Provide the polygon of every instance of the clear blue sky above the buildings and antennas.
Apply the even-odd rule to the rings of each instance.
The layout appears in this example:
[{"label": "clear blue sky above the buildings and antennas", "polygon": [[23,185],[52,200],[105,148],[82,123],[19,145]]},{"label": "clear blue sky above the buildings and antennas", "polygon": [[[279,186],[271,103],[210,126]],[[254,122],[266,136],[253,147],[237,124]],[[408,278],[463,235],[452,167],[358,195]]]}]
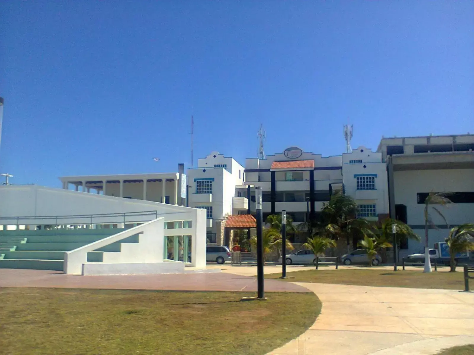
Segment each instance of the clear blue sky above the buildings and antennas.
[{"label": "clear blue sky above the buildings and antennas", "polygon": [[[176,171],[474,133],[473,1],[3,1],[0,172]],[[153,157],[161,160],[156,163]]]}]

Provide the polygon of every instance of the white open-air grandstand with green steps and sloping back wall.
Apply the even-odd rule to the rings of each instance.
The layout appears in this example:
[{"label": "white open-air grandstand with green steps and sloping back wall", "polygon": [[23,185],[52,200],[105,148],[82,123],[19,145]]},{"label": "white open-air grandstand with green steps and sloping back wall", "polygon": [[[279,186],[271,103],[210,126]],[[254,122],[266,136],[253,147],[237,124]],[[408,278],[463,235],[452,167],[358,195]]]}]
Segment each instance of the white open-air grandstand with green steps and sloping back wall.
[{"label": "white open-air grandstand with green steps and sloping back wall", "polygon": [[0,201],[0,268],[117,275],[206,267],[203,210],[34,185],[0,186]]}]

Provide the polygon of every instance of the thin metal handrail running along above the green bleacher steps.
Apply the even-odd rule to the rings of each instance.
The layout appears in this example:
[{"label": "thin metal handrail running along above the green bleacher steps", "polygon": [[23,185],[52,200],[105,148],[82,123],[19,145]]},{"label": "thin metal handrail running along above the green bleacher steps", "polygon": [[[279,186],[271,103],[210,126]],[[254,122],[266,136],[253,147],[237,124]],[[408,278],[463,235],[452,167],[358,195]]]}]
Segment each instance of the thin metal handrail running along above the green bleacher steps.
[{"label": "thin metal handrail running along above the green bleacher steps", "polygon": [[[58,220],[73,220],[73,219],[91,219],[90,223],[93,223],[94,218],[97,217],[123,217],[123,222],[127,222],[127,217],[133,216],[153,216],[152,219],[158,218],[158,211],[138,211],[138,212],[119,212],[119,213],[95,213],[95,214],[69,214],[69,215],[57,215],[57,216],[0,216],[1,221],[16,221],[15,224],[30,224],[26,221],[35,221],[35,220],[51,220],[55,221],[55,224],[58,224]],[[134,222],[146,222],[150,219],[144,219]],[[21,222],[21,223],[20,223]],[[121,221],[120,221],[121,222]],[[97,222],[96,222],[97,223]]]}]

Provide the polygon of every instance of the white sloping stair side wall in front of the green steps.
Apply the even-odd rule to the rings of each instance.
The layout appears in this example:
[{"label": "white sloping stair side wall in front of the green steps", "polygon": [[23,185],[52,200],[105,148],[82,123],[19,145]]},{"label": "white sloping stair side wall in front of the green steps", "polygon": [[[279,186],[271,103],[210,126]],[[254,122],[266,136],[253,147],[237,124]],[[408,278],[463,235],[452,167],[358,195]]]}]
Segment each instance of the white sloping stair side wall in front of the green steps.
[{"label": "white sloping stair side wall in front of the green steps", "polygon": [[[139,242],[141,247],[139,250],[127,255],[127,262],[160,262],[163,261],[163,235],[164,235],[164,218],[159,217],[152,221],[143,223],[137,227],[121,231],[101,240],[94,241],[64,253],[64,274],[82,274],[82,264],[87,263],[87,253],[99,248],[103,248],[109,244],[124,240],[133,235],[139,234]],[[160,238],[161,237],[161,238]],[[128,243],[127,243],[128,244]],[[123,245],[122,245],[123,247]],[[121,254],[124,251],[114,252]],[[104,252],[107,253],[107,252]],[[124,258],[125,259],[125,258]]]}]

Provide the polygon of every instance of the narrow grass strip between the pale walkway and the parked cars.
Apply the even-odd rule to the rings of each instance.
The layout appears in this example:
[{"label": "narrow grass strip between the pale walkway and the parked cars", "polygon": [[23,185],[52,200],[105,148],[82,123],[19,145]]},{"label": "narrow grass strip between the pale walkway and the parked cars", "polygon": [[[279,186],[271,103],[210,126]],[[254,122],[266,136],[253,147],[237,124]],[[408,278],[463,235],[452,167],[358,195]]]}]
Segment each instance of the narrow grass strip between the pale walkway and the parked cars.
[{"label": "narrow grass strip between the pale walkway and the parked cars", "polygon": [[[286,281],[313,282],[321,284],[346,284],[361,286],[388,286],[413,288],[442,288],[449,290],[464,290],[462,272],[432,272],[420,271],[389,271],[381,269],[344,269],[344,270],[304,270],[289,272]],[[265,275],[276,279],[280,274]]]}]

